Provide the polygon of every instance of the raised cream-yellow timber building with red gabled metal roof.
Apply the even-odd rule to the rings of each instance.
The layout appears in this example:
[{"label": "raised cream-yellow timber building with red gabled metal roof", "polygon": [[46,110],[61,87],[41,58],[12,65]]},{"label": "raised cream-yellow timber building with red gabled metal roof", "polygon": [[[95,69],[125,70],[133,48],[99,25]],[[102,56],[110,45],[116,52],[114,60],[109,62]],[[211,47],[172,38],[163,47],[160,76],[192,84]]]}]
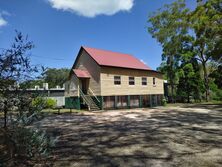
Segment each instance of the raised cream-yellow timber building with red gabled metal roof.
[{"label": "raised cream-yellow timber building with red gabled metal roof", "polygon": [[161,105],[163,94],[163,75],[132,55],[81,47],[65,86],[65,107],[151,107]]}]

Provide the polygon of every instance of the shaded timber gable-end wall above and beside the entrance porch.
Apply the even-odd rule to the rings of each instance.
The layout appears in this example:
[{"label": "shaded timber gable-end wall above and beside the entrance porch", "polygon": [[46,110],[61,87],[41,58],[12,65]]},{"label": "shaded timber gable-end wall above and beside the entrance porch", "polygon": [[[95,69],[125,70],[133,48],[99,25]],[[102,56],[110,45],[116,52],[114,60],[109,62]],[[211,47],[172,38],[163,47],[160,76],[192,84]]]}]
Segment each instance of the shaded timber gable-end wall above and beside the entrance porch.
[{"label": "shaded timber gable-end wall above and beside the entrance porch", "polygon": [[87,70],[91,75],[89,88],[95,95],[100,95],[100,66],[84,50],[80,53],[75,69]]}]

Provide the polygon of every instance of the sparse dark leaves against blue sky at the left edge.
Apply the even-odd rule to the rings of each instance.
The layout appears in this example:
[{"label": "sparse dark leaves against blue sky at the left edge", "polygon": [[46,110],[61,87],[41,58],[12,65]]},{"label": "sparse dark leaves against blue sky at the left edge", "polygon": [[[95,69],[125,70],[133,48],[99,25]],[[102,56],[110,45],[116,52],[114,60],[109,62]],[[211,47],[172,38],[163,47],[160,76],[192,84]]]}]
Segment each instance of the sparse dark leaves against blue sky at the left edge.
[{"label": "sparse dark leaves against blue sky at the left edge", "polygon": [[5,89],[9,83],[30,78],[31,73],[38,71],[36,66],[30,65],[29,52],[32,48],[34,44],[16,31],[11,48],[3,49],[0,53],[0,89]]}]

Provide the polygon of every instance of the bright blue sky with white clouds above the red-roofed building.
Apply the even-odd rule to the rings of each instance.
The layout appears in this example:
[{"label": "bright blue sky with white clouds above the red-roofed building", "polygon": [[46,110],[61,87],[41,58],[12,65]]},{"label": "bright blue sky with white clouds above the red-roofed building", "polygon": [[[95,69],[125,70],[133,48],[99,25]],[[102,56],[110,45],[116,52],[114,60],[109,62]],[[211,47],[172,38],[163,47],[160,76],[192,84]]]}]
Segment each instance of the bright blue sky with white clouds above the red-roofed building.
[{"label": "bright blue sky with white clouds above the red-roofed building", "polygon": [[71,68],[88,46],[132,54],[155,70],[162,48],[147,32],[148,15],[173,1],[0,0],[0,48],[9,48],[18,30],[35,44],[32,64]]}]

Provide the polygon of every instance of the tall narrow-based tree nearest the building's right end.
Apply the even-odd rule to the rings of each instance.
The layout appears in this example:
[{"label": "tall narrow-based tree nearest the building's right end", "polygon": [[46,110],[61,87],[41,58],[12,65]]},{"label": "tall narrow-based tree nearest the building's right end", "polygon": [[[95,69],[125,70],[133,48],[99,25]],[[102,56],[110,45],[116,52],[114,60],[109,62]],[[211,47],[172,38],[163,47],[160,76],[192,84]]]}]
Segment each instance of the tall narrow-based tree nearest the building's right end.
[{"label": "tall narrow-based tree nearest the building's right end", "polygon": [[177,83],[177,67],[180,60],[180,50],[182,39],[187,34],[186,15],[189,12],[185,8],[183,0],[165,5],[164,10],[159,9],[148,19],[151,25],[148,32],[162,45],[162,59],[165,62],[165,73],[169,79],[171,87],[172,101],[174,87]]}]

